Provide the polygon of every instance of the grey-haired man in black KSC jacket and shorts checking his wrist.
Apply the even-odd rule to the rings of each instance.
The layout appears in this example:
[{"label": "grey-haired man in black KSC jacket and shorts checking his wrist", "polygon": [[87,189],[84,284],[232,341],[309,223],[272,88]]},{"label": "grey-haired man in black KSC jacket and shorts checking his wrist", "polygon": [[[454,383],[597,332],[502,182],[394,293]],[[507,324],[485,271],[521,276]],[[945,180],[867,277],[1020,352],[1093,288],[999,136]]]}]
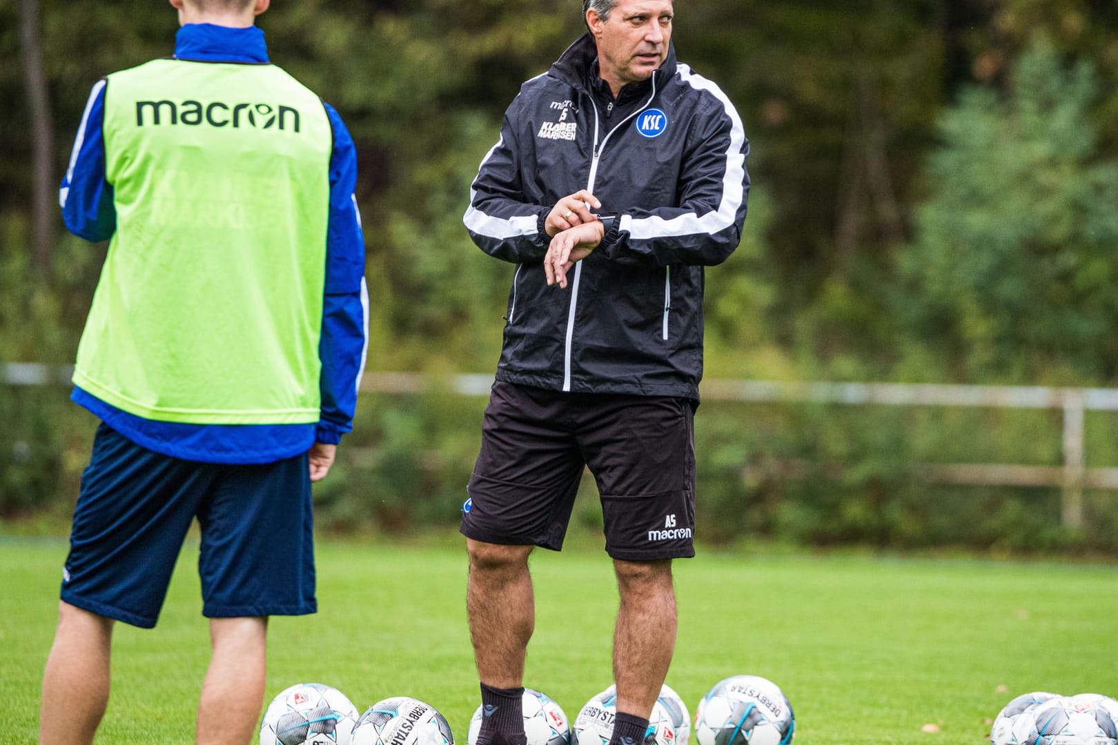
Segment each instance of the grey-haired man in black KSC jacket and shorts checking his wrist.
[{"label": "grey-haired man in black KSC jacket and shorts checking his wrist", "polygon": [[703,267],[746,218],[749,143],[718,86],[675,60],[672,0],[584,15],[589,34],[509,106],[464,218],[515,265],[461,528],[481,745],[524,742],[528,555],[561,548],[586,466],[620,594],[610,742],[644,739],[675,644],[671,560],[694,555]]}]

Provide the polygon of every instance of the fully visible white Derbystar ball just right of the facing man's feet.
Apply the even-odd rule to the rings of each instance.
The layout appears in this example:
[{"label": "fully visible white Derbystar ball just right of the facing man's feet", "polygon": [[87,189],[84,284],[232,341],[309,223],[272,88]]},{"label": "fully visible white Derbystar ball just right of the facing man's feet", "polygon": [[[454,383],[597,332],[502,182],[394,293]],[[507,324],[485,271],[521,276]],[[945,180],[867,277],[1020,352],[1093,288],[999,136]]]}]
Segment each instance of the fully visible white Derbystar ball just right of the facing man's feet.
[{"label": "fully visible white Derbystar ball just right of the facing man's feet", "polygon": [[699,745],[787,745],[795,733],[788,698],[760,676],[719,681],[695,709]]}]

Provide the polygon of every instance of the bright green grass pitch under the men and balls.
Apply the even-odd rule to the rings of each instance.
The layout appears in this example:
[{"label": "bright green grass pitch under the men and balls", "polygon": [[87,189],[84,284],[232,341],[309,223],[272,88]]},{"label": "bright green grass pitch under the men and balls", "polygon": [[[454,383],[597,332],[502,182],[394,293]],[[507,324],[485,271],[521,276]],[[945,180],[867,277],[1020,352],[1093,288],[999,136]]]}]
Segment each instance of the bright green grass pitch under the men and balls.
[{"label": "bright green grass pitch under the men and balls", "polygon": [[[31,742],[66,543],[0,538],[0,742]],[[159,625],[117,624],[98,742],[192,742],[209,657],[197,546],[179,562]],[[320,541],[316,615],[271,623],[271,698],[332,685],[363,710],[388,696],[438,708],[459,743],[477,706],[457,541]],[[616,589],[604,553],[537,552],[525,685],[574,718],[610,682]],[[741,555],[675,564],[680,633],[667,682],[693,716],[737,674],[779,685],[800,745],[980,745],[1017,694],[1118,696],[1118,571],[1060,562]],[[926,727],[935,725],[935,727]],[[927,732],[926,729],[935,729]]]}]

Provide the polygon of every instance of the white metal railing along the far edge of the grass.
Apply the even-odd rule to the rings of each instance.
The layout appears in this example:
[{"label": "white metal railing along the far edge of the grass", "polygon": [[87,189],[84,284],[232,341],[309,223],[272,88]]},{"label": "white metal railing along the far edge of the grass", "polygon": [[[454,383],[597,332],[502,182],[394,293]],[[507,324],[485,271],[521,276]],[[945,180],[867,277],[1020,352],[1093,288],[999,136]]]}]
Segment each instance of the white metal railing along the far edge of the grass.
[{"label": "white metal railing along the far edge of the grass", "polygon": [[[0,383],[9,385],[69,384],[73,367],[38,363],[0,365]],[[366,373],[361,390],[369,393],[421,393],[443,388],[461,395],[487,395],[492,375],[459,374],[436,378],[424,373]],[[707,380],[704,401],[757,403],[839,403],[851,405],[932,405],[1063,411],[1063,465],[937,464],[920,466],[931,481],[972,486],[1044,486],[1062,489],[1062,522],[1080,527],[1083,489],[1118,489],[1118,468],[1087,468],[1083,423],[1087,411],[1118,411],[1118,389],[1044,388],[1036,385],[935,385],[908,383],[805,383]]]}]

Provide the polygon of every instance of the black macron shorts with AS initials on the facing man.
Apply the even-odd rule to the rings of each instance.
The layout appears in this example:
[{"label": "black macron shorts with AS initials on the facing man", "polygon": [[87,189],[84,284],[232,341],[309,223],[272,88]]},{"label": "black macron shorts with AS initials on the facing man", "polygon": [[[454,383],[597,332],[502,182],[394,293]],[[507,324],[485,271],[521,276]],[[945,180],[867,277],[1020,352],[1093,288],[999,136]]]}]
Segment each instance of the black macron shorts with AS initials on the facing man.
[{"label": "black macron shorts with AS initials on the facing man", "polygon": [[694,556],[694,403],[493,384],[463,535],[562,548],[582,469],[601,498],[606,552]]}]

